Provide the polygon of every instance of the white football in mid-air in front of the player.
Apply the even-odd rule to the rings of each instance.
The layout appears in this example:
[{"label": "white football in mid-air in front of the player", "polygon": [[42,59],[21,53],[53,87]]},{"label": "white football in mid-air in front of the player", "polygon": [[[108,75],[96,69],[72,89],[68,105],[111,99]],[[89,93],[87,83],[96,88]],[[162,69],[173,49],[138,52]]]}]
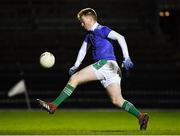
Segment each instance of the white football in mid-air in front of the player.
[{"label": "white football in mid-air in front of the player", "polygon": [[44,52],[40,56],[40,64],[44,68],[51,68],[55,63],[55,57],[50,52]]}]

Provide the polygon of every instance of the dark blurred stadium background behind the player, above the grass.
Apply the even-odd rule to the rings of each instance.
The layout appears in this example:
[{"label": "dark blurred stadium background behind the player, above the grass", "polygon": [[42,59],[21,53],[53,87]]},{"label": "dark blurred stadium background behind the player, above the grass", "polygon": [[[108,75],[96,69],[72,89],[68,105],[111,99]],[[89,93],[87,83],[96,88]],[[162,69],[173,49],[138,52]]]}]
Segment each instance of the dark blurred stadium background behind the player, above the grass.
[{"label": "dark blurred stadium background behind the player, above the grass", "polygon": [[[37,109],[36,98],[52,101],[59,95],[84,39],[76,14],[86,7],[126,38],[135,67],[123,70],[124,98],[137,108],[179,109],[179,0],[1,0],[0,109]],[[121,49],[114,48],[121,65]],[[56,57],[51,69],[39,64],[45,51]],[[80,68],[91,63],[89,50]],[[24,90],[9,97],[20,81]],[[78,86],[61,108],[116,109],[99,82]]]}]

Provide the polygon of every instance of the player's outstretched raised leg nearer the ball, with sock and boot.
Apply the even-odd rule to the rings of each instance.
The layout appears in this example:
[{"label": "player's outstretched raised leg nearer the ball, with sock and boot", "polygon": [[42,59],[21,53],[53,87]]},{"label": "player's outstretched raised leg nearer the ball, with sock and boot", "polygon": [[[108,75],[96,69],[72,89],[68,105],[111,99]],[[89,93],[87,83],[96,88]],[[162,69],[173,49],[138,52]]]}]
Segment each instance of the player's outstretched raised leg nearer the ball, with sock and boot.
[{"label": "player's outstretched raised leg nearer the ball, with sock and boot", "polygon": [[53,102],[45,102],[40,99],[37,99],[37,102],[43,109],[53,114],[57,107],[73,93],[79,84],[94,80],[98,80],[96,74],[91,65],[87,66],[70,77],[64,89]]}]

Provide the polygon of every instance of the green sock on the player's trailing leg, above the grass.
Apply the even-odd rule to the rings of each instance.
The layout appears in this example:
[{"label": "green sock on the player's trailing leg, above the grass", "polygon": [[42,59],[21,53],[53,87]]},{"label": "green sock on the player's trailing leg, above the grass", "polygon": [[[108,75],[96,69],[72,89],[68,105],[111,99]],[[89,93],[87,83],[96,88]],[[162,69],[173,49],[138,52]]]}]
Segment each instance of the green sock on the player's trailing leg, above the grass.
[{"label": "green sock on the player's trailing leg, above the grass", "polygon": [[132,115],[134,115],[137,118],[139,117],[140,111],[138,109],[136,109],[136,107],[134,107],[134,105],[128,101],[125,101],[123,103],[122,109],[131,113]]}]

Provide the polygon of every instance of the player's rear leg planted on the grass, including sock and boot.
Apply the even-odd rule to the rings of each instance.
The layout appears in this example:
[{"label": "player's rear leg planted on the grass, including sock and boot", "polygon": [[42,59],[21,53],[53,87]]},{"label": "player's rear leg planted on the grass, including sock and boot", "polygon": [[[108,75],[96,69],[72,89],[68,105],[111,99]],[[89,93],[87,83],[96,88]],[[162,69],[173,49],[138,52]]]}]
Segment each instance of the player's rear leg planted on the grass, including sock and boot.
[{"label": "player's rear leg planted on the grass, including sock and boot", "polygon": [[145,130],[149,120],[148,114],[141,113],[132,103],[122,97],[120,84],[112,83],[106,87],[106,90],[112,100],[112,103],[134,115],[139,120],[140,130]]}]

